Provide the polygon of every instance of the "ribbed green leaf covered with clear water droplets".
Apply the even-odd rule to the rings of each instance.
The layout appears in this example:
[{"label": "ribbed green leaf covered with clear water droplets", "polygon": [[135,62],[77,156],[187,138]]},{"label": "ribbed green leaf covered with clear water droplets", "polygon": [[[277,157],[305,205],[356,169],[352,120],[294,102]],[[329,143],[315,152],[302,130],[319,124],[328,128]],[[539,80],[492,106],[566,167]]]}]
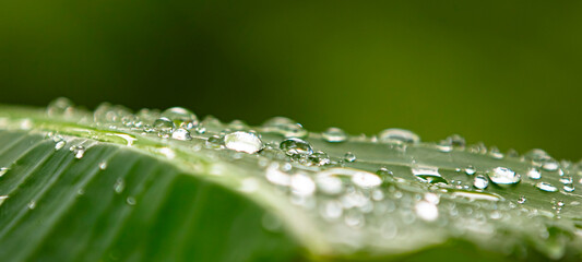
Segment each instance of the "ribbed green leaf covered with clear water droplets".
[{"label": "ribbed green leaf covered with clear water droplets", "polygon": [[405,130],[0,107],[2,261],[580,260],[582,165]]}]

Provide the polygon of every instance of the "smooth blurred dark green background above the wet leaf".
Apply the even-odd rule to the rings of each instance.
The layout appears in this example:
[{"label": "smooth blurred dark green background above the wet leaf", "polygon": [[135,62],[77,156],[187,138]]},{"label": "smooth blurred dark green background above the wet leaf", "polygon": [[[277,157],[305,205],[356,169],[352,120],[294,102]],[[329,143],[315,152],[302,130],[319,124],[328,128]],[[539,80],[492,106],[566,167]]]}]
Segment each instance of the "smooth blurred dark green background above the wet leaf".
[{"label": "smooth blurred dark green background above the wet leaf", "polygon": [[580,1],[2,1],[0,103],[183,106],[582,157]]}]

